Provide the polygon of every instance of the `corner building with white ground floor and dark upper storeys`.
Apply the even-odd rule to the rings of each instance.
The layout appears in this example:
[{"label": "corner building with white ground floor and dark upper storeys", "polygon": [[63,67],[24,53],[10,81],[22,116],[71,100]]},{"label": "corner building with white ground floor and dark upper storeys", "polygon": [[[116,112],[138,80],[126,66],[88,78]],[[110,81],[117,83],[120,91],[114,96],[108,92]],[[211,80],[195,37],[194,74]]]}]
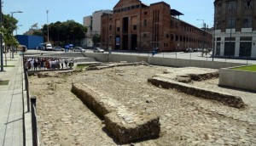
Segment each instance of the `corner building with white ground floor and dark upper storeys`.
[{"label": "corner building with white ground floor and dark upper storeys", "polygon": [[216,56],[256,57],[256,0],[214,1]]}]

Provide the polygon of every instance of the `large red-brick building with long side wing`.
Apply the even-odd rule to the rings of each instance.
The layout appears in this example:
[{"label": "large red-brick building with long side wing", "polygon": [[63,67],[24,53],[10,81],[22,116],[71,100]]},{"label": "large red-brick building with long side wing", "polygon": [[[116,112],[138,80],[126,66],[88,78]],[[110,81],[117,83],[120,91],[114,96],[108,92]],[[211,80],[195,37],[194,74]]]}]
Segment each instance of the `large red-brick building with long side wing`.
[{"label": "large red-brick building with long side wing", "polygon": [[139,0],[120,0],[113,14],[102,15],[102,48],[160,52],[212,48],[212,35],[178,19],[167,3],[150,6]]}]

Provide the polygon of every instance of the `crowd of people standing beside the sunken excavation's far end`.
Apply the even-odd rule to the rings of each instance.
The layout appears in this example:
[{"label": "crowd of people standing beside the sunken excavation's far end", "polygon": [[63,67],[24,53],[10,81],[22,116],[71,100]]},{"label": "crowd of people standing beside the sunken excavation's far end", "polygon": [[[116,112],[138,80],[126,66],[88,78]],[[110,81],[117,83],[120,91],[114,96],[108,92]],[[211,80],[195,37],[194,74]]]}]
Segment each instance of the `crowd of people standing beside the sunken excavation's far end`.
[{"label": "crowd of people standing beside the sunken excavation's far end", "polygon": [[67,69],[73,67],[73,59],[29,58],[24,59],[24,64],[27,70]]}]

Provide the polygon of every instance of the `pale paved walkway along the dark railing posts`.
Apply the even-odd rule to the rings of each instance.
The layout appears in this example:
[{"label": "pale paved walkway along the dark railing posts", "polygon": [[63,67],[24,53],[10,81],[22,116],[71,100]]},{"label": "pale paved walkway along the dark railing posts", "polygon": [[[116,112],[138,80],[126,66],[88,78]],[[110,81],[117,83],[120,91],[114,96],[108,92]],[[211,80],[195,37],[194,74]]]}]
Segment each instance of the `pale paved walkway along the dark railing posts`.
[{"label": "pale paved walkway along the dark railing posts", "polygon": [[[0,71],[0,81],[9,80],[8,85],[0,86],[0,144],[3,146],[32,145],[31,115],[27,112],[26,92],[23,89],[25,86],[22,57],[19,54],[15,54],[15,59],[10,59],[9,54],[7,56],[7,65],[15,65],[15,67],[3,66],[4,71]],[[5,59],[3,59],[3,65],[5,65]],[[23,122],[24,116],[28,117],[26,122]],[[24,137],[26,135],[28,137]]]}]

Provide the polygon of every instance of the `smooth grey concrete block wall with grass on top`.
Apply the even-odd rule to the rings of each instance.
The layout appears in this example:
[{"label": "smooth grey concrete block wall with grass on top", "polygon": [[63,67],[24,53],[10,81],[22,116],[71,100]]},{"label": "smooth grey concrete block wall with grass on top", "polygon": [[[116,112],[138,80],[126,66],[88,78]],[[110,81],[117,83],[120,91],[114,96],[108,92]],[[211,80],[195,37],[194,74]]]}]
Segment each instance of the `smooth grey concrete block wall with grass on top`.
[{"label": "smooth grey concrete block wall with grass on top", "polygon": [[218,85],[256,92],[256,73],[233,68],[220,69]]}]

